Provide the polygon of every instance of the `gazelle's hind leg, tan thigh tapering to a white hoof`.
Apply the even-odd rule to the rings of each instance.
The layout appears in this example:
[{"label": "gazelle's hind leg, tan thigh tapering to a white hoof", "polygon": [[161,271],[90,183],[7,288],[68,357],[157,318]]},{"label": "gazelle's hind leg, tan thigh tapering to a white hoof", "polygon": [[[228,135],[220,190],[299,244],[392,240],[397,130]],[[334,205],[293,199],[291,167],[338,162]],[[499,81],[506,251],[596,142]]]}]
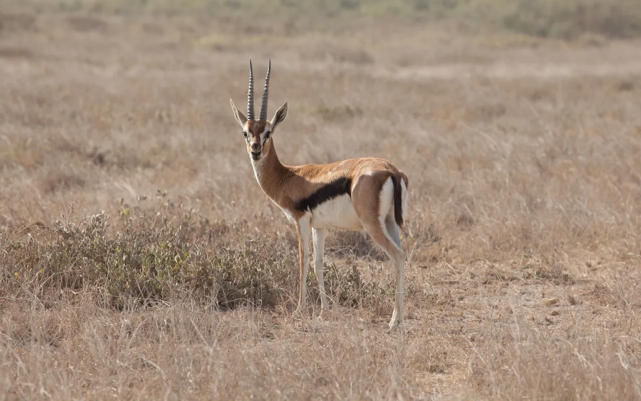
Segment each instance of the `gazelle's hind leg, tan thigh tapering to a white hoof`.
[{"label": "gazelle's hind leg, tan thigh tapering to a white hoof", "polygon": [[[362,181],[361,181],[362,180]],[[352,202],[363,228],[381,247],[396,268],[396,297],[390,329],[395,331],[403,321],[403,284],[405,252],[401,247],[399,227],[394,220],[392,180],[387,179],[380,192],[372,192],[374,177],[363,176],[352,191]]]}]

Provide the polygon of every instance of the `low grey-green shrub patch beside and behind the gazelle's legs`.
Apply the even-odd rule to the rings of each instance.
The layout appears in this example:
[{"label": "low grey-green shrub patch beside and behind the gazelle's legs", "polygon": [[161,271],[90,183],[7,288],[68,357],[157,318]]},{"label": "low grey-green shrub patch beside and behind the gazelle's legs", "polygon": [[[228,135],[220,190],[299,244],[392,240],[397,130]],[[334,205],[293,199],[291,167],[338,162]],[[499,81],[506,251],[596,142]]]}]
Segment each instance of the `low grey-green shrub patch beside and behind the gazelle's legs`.
[{"label": "low grey-green shrub patch beside and behind the gazelle's legs", "polygon": [[[56,220],[50,231],[22,240],[1,235],[0,295],[28,291],[42,299],[65,290],[86,291],[96,294],[102,306],[115,309],[170,299],[224,309],[297,301],[297,250],[283,241],[263,235],[245,241],[240,249],[211,254],[205,241],[187,241],[172,225],[154,229],[145,218],[129,218],[114,235],[108,220],[103,211],[78,223]],[[376,306],[385,299],[391,305],[394,282],[363,283],[354,266],[331,264],[326,271],[328,295],[340,304]],[[313,268],[307,281],[312,302],[319,303]]]}]

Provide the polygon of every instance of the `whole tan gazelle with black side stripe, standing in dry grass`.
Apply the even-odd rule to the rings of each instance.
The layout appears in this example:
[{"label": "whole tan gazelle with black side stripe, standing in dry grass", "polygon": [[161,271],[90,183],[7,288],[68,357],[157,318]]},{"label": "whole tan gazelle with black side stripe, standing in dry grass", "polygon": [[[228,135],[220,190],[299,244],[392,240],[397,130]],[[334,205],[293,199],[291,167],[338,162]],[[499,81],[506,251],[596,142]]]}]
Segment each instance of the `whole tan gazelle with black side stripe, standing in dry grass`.
[{"label": "whole tan gazelle with black side stripe, standing in dry grass", "polygon": [[405,253],[399,231],[407,210],[408,178],[387,160],[358,158],[326,165],[285,166],[276,155],[272,135],[285,117],[287,102],[267,120],[271,60],[267,67],[260,117],[254,119],[254,74],[249,60],[247,117],[231,101],[231,108],[246,140],[247,153],[258,185],[290,222],[296,225],[299,253],[299,299],[296,311],[306,303],[306,277],[310,228],[314,270],[319,279],[320,304],[328,309],[323,279],[323,251],[328,228],[362,230],[387,253],[396,266],[396,299],[390,329],[403,321]]}]

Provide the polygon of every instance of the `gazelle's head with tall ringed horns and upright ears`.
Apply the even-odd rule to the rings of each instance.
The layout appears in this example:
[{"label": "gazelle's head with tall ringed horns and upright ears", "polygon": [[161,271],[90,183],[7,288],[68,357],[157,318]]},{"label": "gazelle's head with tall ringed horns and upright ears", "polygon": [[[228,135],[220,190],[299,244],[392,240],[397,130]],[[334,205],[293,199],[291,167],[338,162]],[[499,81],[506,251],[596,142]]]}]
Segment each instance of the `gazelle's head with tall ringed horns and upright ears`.
[{"label": "gazelle's head with tall ringed horns and upright ears", "polygon": [[269,95],[269,73],[272,69],[272,61],[269,60],[267,67],[267,77],[265,77],[265,88],[263,89],[263,104],[260,106],[260,118],[254,119],[254,72],[249,60],[249,90],[247,91],[247,117],[238,110],[234,102],[231,102],[231,110],[242,127],[242,133],[247,145],[247,153],[252,162],[257,162],[269,154],[271,147],[271,135],[274,130],[285,120],[287,116],[287,102],[276,111],[271,121],[267,120],[267,97]]}]

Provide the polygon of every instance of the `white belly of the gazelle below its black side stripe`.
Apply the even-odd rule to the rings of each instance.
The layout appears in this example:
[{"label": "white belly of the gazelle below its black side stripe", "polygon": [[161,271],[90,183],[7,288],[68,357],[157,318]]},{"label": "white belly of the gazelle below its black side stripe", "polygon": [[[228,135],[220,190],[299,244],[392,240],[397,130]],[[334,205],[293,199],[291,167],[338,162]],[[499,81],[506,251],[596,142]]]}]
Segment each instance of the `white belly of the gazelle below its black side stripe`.
[{"label": "white belly of the gazelle below its black side stripe", "polygon": [[320,204],[312,211],[313,228],[340,228],[344,230],[362,230],[363,225],[356,215],[349,195],[340,195]]}]

